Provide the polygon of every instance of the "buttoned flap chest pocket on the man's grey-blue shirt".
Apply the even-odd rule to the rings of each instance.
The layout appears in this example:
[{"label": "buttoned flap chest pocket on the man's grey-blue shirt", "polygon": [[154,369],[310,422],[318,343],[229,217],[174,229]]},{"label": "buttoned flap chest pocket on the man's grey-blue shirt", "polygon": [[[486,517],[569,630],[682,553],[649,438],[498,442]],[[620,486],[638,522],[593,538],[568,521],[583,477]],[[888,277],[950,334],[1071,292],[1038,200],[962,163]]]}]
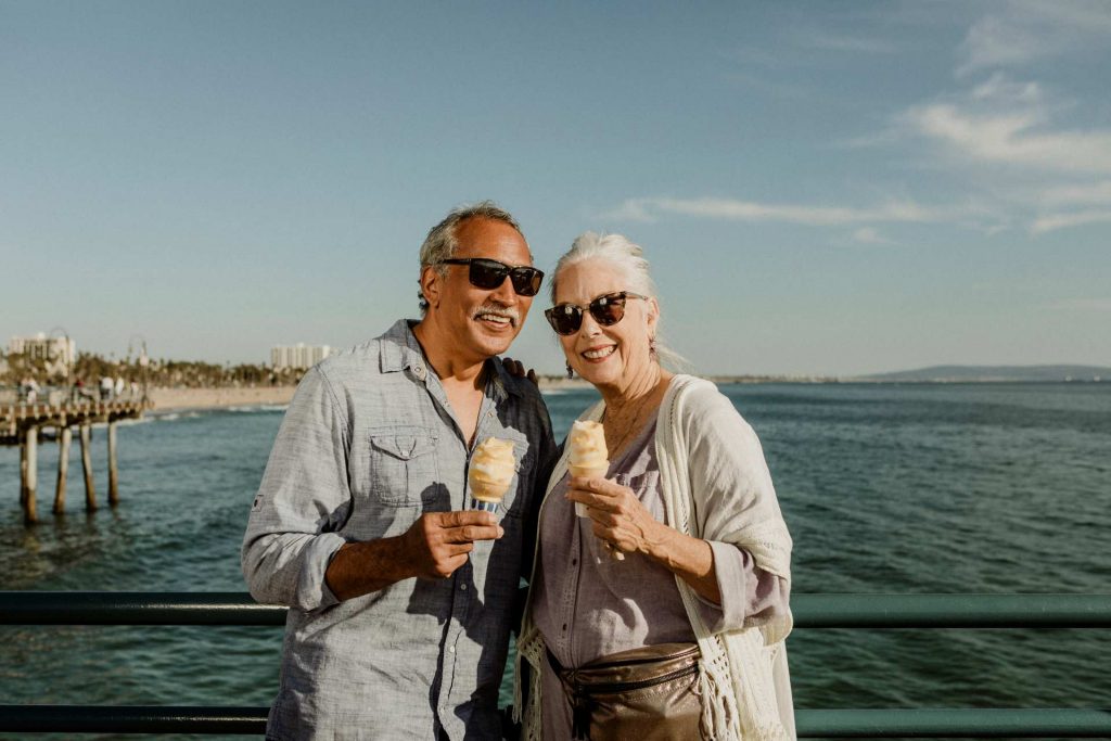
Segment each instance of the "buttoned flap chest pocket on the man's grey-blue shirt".
[{"label": "buttoned flap chest pocket on the man's grey-blue shirt", "polygon": [[419,427],[370,430],[370,495],[386,504],[420,505],[438,493],[437,437]]}]

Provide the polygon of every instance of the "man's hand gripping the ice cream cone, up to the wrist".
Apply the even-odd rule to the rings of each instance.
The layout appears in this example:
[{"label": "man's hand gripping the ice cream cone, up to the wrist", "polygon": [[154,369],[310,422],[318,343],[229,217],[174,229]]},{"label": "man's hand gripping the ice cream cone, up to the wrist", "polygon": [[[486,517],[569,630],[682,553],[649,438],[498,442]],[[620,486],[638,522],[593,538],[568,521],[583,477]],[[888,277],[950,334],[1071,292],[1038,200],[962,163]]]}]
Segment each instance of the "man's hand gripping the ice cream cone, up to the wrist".
[{"label": "man's hand gripping the ice cream cone, up to the wrist", "polygon": [[467,563],[477,540],[504,534],[490,512],[426,512],[401,537],[410,568],[419,579],[448,579]]}]

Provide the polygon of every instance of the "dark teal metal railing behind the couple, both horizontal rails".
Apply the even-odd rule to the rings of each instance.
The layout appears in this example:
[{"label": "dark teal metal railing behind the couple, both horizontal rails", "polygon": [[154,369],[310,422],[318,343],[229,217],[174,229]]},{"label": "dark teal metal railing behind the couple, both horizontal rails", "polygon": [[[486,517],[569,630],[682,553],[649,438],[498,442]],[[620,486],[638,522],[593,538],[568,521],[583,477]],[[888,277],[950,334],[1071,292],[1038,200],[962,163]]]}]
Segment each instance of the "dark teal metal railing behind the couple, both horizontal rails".
[{"label": "dark teal metal railing behind the couple, both horizontal rails", "polygon": [[[797,594],[795,627],[1111,628],[1111,594]],[[281,625],[238,592],[0,592],[0,624]],[[0,705],[0,733],[243,733],[267,708]],[[800,738],[1111,738],[1108,709],[798,710]]]}]

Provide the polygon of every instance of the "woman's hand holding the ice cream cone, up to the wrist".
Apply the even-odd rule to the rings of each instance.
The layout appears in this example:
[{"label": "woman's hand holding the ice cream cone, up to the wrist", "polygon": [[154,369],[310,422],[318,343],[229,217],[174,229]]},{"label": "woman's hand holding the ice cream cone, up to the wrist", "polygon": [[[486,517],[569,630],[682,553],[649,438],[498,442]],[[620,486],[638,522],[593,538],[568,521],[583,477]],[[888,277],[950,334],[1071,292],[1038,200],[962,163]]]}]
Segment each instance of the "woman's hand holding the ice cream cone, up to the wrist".
[{"label": "woman's hand holding the ice cream cone, up to the wrist", "polygon": [[653,557],[664,548],[671,528],[653,518],[629,487],[573,477],[567,498],[589,508],[594,535],[614,550]]}]

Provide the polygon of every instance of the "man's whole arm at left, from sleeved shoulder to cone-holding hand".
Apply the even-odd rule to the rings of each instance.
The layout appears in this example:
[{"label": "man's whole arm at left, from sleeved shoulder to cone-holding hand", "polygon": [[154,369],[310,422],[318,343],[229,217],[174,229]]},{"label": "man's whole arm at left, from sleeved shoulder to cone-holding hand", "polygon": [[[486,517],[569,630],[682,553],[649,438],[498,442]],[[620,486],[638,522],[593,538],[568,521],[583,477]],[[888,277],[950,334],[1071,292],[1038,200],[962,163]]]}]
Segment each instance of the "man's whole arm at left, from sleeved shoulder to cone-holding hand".
[{"label": "man's whole arm at left, from sleeved shoulder to cone-holding hand", "polygon": [[500,538],[488,512],[428,512],[402,535],[348,542],[349,425],[328,379],[311,370],[274,441],[243,539],[242,567],[260,602],[317,610],[413,577],[443,579],[476,540]]}]

